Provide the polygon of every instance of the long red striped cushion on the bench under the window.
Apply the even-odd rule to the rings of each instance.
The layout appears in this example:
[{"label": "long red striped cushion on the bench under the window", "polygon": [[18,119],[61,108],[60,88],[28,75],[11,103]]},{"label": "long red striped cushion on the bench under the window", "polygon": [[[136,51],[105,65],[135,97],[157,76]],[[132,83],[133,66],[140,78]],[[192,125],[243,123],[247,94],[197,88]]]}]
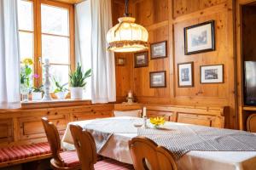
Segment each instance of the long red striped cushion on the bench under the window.
[{"label": "long red striped cushion on the bench under the window", "polygon": [[30,156],[41,156],[51,153],[49,143],[26,144],[0,149],[0,162],[15,161]]}]

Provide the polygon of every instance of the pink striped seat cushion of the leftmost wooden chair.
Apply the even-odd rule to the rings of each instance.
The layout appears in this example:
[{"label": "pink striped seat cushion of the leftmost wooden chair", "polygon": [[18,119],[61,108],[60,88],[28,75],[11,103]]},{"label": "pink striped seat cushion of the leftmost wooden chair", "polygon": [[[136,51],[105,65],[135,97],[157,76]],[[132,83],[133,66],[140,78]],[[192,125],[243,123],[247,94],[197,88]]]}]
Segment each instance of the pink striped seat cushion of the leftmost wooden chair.
[{"label": "pink striped seat cushion of the leftmost wooden chair", "polygon": [[80,166],[79,156],[78,156],[76,150],[61,152],[60,156],[64,161],[64,166],[65,167]]}]

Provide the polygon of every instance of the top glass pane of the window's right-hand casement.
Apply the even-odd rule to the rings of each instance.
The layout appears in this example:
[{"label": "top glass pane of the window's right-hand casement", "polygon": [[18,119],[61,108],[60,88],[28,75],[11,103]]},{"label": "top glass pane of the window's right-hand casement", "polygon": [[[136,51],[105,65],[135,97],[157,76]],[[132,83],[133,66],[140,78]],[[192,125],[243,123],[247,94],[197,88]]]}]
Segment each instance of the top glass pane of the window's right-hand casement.
[{"label": "top glass pane of the window's right-hand casement", "polygon": [[68,10],[65,8],[41,5],[42,32],[68,36]]}]

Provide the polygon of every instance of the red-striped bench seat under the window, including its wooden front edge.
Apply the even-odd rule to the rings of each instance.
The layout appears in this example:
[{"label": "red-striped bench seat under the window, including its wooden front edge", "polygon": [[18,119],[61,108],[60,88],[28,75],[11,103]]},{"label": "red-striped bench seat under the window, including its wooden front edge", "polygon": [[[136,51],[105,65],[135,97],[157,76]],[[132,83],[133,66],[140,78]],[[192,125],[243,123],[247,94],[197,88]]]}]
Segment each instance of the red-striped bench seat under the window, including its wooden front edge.
[{"label": "red-striped bench seat under the window, including its wooden front edge", "polygon": [[49,143],[26,144],[0,149],[0,167],[9,167],[51,157]]}]

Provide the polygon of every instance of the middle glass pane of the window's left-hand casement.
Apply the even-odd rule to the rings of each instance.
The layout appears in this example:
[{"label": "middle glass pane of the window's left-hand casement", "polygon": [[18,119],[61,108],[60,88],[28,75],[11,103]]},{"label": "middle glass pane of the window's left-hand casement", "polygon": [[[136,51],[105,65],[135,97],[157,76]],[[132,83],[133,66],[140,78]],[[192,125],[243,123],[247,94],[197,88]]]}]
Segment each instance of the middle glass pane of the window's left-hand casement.
[{"label": "middle glass pane of the window's left-hand casement", "polygon": [[20,60],[33,59],[33,33],[19,32],[20,38]]}]

